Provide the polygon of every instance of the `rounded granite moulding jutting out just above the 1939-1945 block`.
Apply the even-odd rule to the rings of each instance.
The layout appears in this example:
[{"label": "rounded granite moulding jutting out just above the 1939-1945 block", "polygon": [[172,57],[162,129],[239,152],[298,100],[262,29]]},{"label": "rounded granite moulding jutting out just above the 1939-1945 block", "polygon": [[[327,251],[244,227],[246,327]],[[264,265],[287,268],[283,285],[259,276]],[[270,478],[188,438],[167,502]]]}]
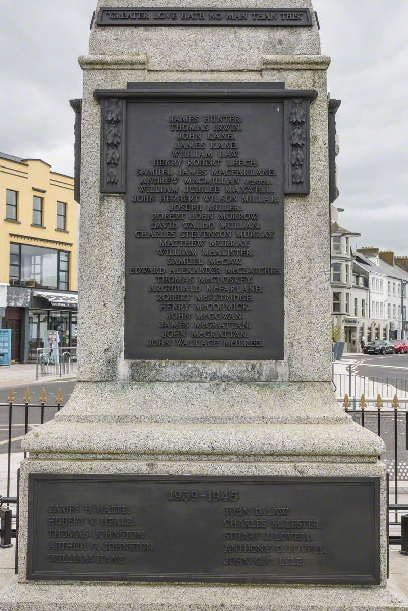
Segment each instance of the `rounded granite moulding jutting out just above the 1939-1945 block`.
[{"label": "rounded granite moulding jutting out just above the 1939-1945 block", "polygon": [[270,455],[374,457],[384,453],[380,437],[352,423],[201,424],[73,423],[50,421],[24,437],[34,453],[115,455]]}]

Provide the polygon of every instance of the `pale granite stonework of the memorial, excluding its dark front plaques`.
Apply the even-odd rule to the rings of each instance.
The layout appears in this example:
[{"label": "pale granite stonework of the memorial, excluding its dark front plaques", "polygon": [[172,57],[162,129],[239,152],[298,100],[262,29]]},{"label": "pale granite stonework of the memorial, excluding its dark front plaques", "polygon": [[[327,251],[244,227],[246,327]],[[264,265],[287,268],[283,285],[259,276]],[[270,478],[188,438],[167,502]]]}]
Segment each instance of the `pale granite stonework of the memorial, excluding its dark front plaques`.
[{"label": "pale granite stonework of the memorial, excluding its dark front plaques", "polygon": [[[105,5],[101,0],[98,10]],[[165,0],[109,6],[166,7]],[[224,8],[282,8],[230,0]],[[78,384],[53,422],[23,441],[18,583],[0,611],[79,609],[408,609],[387,588],[384,452],[335,401],[330,367],[327,167],[329,58],[311,27],[98,27],[82,95]],[[172,7],[217,7],[175,0]],[[126,360],[125,196],[100,193],[101,109],[95,90],[128,83],[284,83],[313,90],[310,194],[285,196],[284,351],[279,361]],[[136,332],[136,331],[135,331]],[[379,478],[379,584],[357,587],[59,584],[27,581],[29,474],[264,475]],[[352,511],[353,508],[344,508]],[[352,554],[352,550],[350,551]],[[56,602],[57,601],[57,602]]]}]

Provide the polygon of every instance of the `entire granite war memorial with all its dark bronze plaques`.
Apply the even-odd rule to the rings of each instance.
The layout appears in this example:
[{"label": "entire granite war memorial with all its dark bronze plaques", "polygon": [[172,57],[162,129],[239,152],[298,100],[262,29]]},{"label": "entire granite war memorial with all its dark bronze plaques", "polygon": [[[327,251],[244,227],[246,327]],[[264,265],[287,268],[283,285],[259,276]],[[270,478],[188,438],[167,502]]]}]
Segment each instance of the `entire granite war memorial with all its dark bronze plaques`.
[{"label": "entire granite war memorial with all its dark bronze plaques", "polygon": [[408,609],[332,390],[313,6],[170,5],[100,0],[79,57],[78,383],[24,439],[0,610]]}]

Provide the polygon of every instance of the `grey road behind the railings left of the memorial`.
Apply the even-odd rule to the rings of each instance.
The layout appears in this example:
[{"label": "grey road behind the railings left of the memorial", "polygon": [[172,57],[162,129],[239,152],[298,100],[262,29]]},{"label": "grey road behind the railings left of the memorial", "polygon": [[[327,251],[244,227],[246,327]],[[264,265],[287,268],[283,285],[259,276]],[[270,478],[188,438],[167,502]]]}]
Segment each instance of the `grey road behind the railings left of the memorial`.
[{"label": "grey road behind the railings left of the memorial", "polygon": [[[71,396],[71,392],[75,386],[75,379],[70,380],[56,380],[53,382],[38,382],[36,384],[30,384],[29,389],[31,393],[31,403],[38,403],[38,397],[43,388],[45,388],[45,394],[47,402],[44,407],[44,422],[52,420],[56,412],[55,398],[57,390],[60,388],[62,392],[62,398],[64,405],[67,403]],[[16,403],[23,403],[24,390],[27,384],[21,386],[14,386],[13,391],[16,398]],[[4,403],[7,401],[7,389],[0,389],[0,402]],[[13,407],[12,412],[12,452],[21,452],[21,439],[24,437],[24,419],[25,419],[25,408],[24,407]],[[41,408],[28,408],[28,430],[31,430],[34,426],[37,426],[41,422]],[[7,453],[8,450],[8,439],[9,439],[9,407],[0,407],[0,454]]]}]

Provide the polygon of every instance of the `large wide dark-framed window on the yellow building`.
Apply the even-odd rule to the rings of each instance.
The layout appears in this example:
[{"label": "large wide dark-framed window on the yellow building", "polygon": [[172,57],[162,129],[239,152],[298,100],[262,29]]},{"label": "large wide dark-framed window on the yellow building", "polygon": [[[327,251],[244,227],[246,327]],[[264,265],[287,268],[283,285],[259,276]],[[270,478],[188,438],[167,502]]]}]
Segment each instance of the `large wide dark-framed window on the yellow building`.
[{"label": "large wide dark-framed window on the yellow building", "polygon": [[10,243],[10,284],[68,290],[69,253]]}]

